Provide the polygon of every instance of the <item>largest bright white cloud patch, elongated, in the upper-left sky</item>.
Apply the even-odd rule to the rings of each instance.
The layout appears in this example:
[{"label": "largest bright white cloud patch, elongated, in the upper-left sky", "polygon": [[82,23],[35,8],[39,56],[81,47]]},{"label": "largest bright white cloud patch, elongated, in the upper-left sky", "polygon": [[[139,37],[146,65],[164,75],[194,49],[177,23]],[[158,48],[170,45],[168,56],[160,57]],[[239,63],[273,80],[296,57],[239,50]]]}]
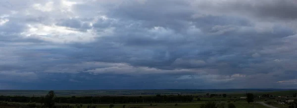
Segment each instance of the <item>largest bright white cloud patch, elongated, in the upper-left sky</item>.
[{"label": "largest bright white cloud patch, elongated, in the upper-left sky", "polygon": [[55,43],[91,42],[97,36],[92,30],[80,32],[66,27],[41,24],[28,25],[28,30],[21,33],[21,35]]}]

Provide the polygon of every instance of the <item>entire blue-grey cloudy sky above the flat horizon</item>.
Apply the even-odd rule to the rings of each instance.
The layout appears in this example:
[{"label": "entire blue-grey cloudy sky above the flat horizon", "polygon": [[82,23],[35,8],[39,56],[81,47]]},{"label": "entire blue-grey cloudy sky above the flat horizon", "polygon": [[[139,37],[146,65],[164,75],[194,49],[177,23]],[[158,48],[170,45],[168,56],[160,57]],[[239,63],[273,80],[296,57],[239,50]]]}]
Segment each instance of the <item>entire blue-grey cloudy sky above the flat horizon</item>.
[{"label": "entire blue-grey cloudy sky above the flat horizon", "polygon": [[0,89],[297,87],[297,0],[0,0]]}]

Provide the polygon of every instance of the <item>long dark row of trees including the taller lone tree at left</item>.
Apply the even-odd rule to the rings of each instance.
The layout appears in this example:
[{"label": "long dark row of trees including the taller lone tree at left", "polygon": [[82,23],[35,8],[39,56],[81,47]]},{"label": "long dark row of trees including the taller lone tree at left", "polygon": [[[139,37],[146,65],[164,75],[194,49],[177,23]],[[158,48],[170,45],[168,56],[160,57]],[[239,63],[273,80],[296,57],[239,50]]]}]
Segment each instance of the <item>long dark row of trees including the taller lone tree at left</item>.
[{"label": "long dark row of trees including the taller lone tree at left", "polygon": [[125,104],[125,103],[187,103],[192,102],[192,95],[156,95],[156,96],[88,96],[88,97],[56,97],[53,91],[45,97],[0,96],[0,101],[18,103],[45,103],[49,96],[53,96],[55,103],[69,104]]}]

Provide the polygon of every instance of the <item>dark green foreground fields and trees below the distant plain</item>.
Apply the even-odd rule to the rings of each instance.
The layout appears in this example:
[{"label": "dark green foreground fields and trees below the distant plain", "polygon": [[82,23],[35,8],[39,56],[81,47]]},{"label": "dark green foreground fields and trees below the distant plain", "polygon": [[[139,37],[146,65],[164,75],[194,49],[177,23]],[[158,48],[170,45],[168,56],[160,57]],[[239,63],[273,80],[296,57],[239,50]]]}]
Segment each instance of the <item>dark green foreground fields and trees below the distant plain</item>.
[{"label": "dark green foreground fields and trees below the distant plain", "polygon": [[[292,94],[287,92],[284,96],[272,93],[226,95],[211,93],[208,96],[157,94],[154,96],[57,97],[55,92],[49,91],[44,97],[0,96],[0,108],[3,108],[1,106],[5,106],[4,108],[266,108],[258,103],[252,103],[264,100],[266,104],[278,108],[296,108],[297,101],[292,102],[296,99]],[[224,98],[227,95],[228,98]],[[247,99],[242,98],[244,96]]]}]

